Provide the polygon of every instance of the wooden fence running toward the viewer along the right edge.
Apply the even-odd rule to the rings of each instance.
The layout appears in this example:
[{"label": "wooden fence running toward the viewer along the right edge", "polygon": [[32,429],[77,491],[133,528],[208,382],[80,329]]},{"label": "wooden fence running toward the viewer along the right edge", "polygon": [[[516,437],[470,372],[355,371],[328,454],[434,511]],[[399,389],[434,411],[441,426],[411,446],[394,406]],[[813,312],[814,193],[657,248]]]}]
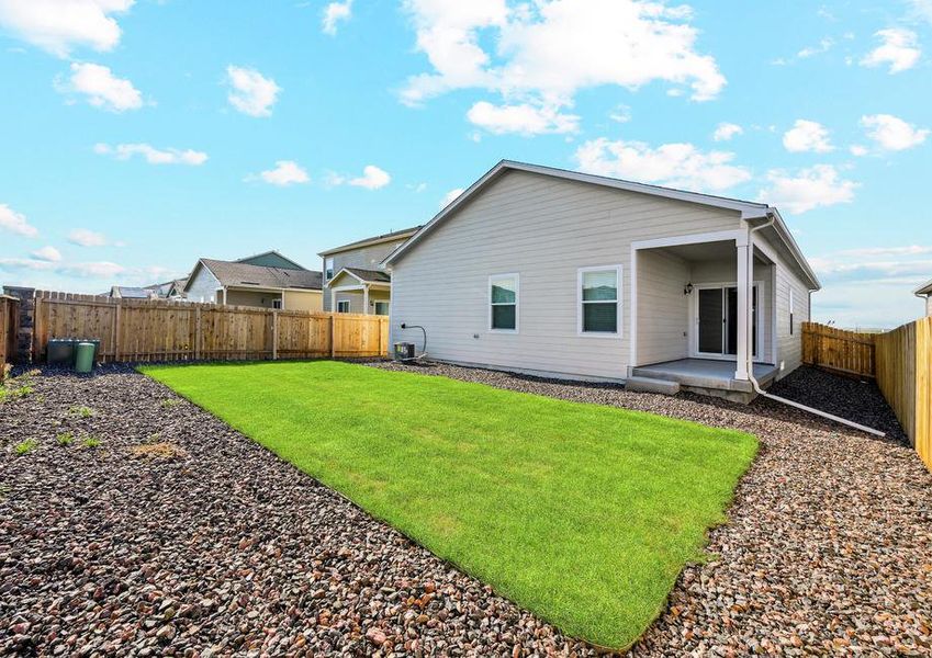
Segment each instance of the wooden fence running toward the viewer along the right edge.
[{"label": "wooden fence running toward the viewer along the right edge", "polygon": [[875,337],[877,385],[932,469],[932,318]]}]

